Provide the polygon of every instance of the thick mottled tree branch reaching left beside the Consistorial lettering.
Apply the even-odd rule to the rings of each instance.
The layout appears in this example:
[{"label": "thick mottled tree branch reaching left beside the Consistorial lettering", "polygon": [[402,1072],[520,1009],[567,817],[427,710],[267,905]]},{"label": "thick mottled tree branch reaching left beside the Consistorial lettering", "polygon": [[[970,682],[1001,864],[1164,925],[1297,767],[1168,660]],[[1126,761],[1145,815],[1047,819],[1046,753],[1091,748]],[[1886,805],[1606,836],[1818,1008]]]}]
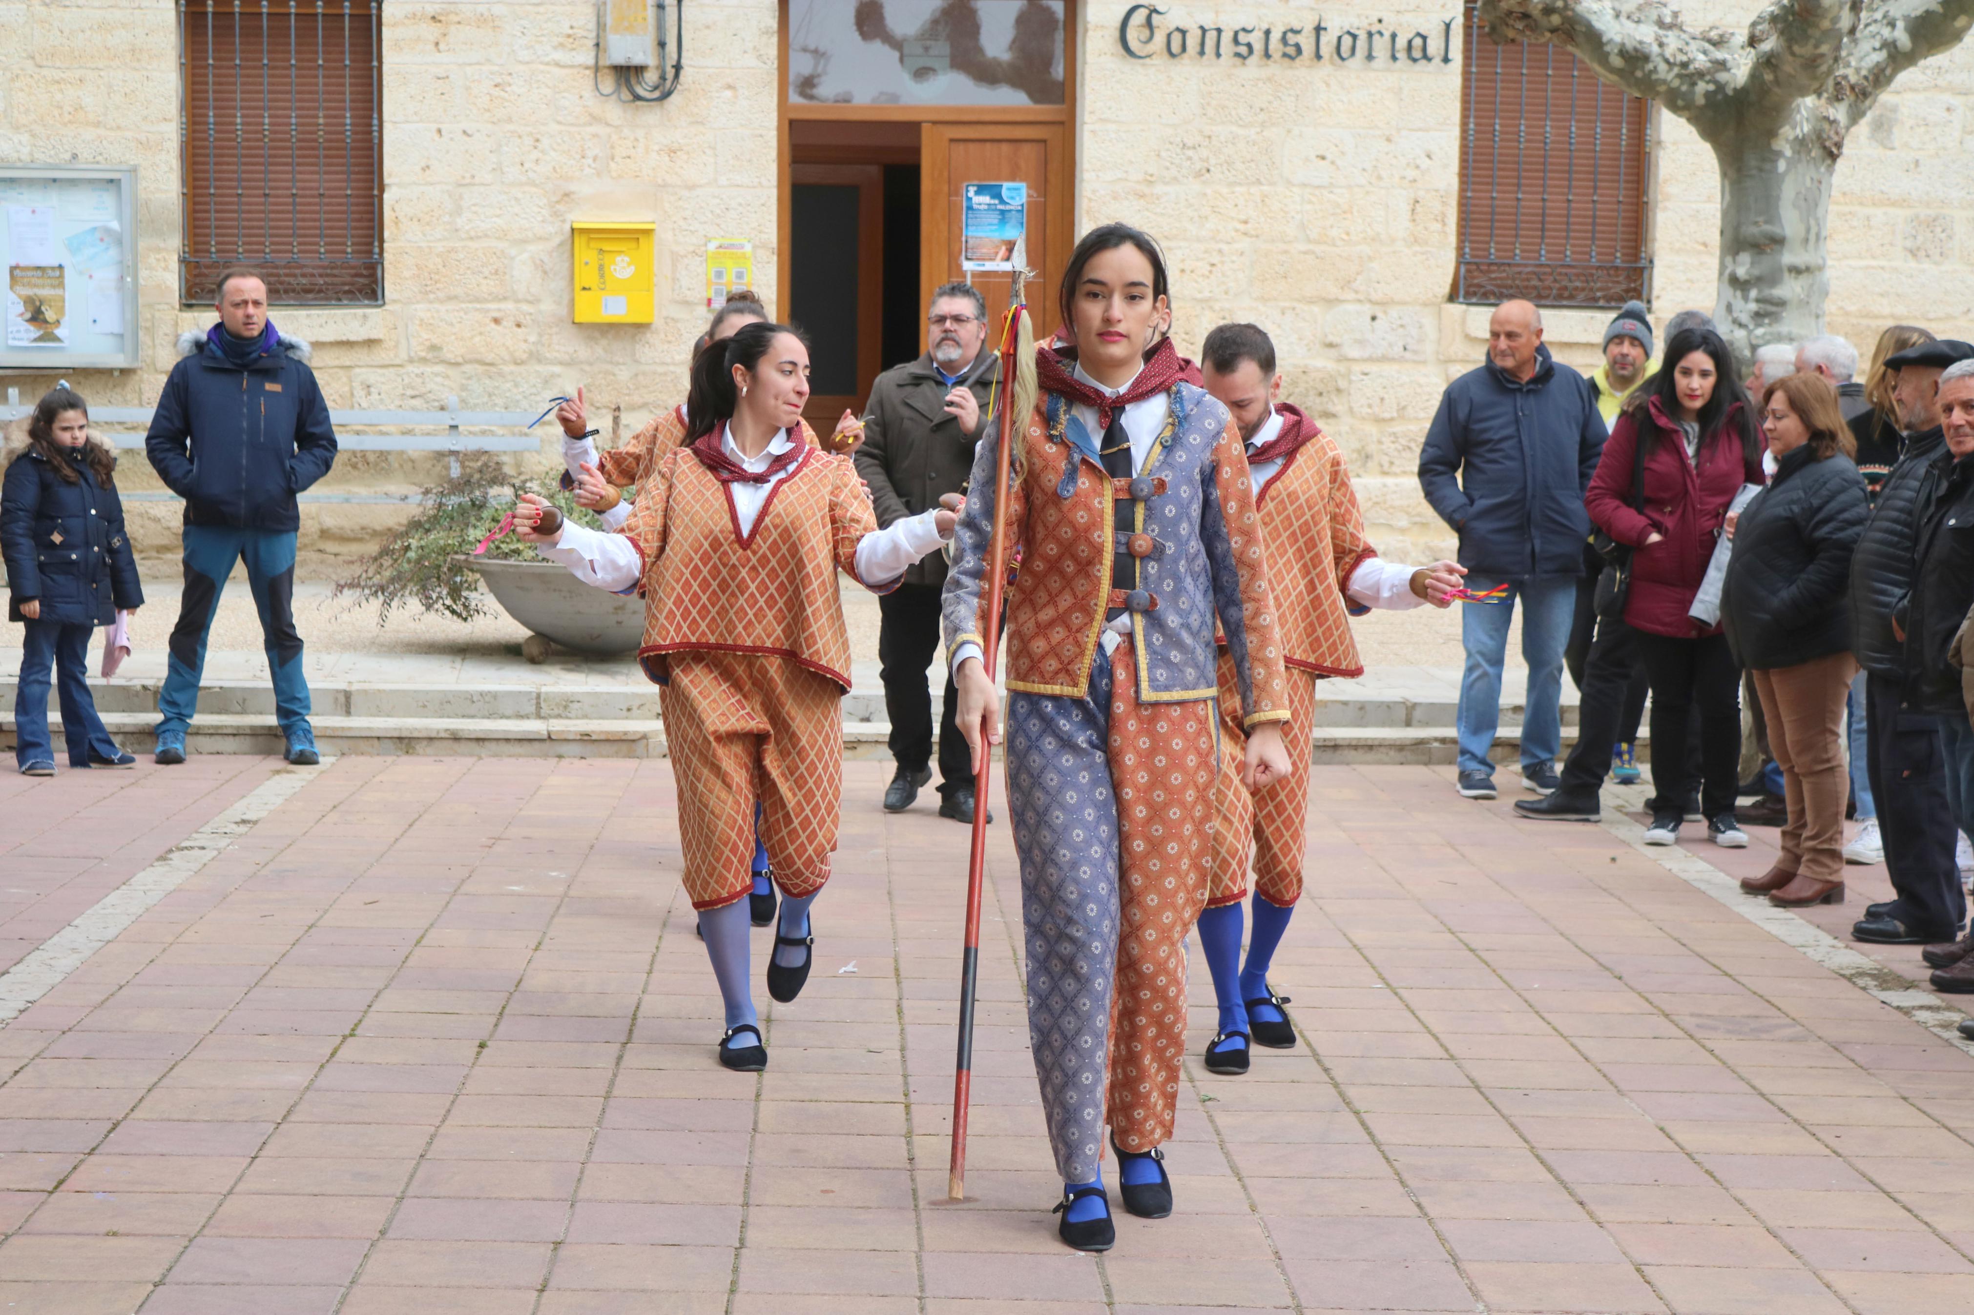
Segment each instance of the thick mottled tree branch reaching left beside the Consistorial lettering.
[{"label": "thick mottled tree branch reaching left beside the Consistorial lettering", "polygon": [[1747,49],[1721,28],[1688,32],[1658,0],[1480,0],[1496,41],[1554,41],[1634,97],[1706,132],[1747,81]]}]

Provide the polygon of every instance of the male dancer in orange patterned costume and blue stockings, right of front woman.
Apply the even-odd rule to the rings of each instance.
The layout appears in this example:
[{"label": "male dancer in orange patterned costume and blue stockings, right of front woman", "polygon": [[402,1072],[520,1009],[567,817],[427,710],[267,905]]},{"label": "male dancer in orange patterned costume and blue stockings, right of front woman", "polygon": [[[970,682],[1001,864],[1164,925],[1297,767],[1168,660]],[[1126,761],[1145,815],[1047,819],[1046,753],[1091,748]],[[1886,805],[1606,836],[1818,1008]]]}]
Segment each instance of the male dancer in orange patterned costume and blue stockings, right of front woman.
[{"label": "male dancer in orange patterned costume and blue stockings, right of front woman", "polygon": [[[1275,345],[1252,323],[1224,323],[1202,349],[1206,390],[1226,402],[1248,450],[1248,469],[1261,519],[1261,546],[1275,595],[1281,658],[1289,680],[1289,779],[1263,795],[1248,793],[1222,757],[1216,787],[1208,909],[1200,946],[1220,998],[1220,1033],[1206,1047],[1212,1073],[1246,1073],[1248,1041],[1285,1049],[1295,1029],[1267,986],[1269,962],[1303,895],[1303,842],[1309,816],[1309,757],[1317,680],[1360,676],[1348,611],[1368,607],[1449,605],[1461,568],[1451,562],[1413,570],[1378,558],[1364,538],[1364,513],[1336,444],[1297,408],[1277,402],[1281,375]],[[1220,735],[1240,745],[1240,688],[1232,655],[1220,651]],[[1253,858],[1253,938],[1240,964],[1242,901]]]}]

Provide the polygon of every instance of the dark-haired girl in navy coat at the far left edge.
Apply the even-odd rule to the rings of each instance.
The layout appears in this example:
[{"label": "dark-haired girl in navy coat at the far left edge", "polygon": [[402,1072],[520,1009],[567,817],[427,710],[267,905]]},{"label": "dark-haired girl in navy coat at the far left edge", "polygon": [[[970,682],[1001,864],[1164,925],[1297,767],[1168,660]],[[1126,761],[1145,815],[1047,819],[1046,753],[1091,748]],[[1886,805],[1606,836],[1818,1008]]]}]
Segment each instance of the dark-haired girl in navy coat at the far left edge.
[{"label": "dark-haired girl in navy coat at the far left edge", "polygon": [[55,775],[47,686],[57,666],[69,767],[136,761],[103,729],[89,696],[89,633],[113,623],[116,609],[144,603],[114,469],[116,453],[89,438],[89,408],[67,384],[34,408],[28,442],[6,448],[0,552],[12,593],[8,619],[28,631],[14,692],[14,757],[30,777]]}]

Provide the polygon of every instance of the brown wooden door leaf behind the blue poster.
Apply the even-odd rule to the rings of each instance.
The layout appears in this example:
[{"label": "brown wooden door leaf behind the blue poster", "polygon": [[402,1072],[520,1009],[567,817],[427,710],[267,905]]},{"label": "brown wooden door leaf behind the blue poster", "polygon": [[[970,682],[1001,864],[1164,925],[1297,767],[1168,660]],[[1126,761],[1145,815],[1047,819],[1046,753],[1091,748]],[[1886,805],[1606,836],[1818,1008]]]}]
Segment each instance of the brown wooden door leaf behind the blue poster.
[{"label": "brown wooden door leaf behind the blue poster", "polygon": [[[940,284],[965,280],[959,268],[961,191],[967,183],[1028,183],[1028,313],[1034,337],[1056,331],[1056,280],[1070,254],[1074,197],[1070,189],[1068,128],[1046,122],[928,122],[920,138],[924,237],[920,246],[920,302],[930,304]],[[973,274],[987,298],[989,341],[1007,311],[1011,274]]]}]

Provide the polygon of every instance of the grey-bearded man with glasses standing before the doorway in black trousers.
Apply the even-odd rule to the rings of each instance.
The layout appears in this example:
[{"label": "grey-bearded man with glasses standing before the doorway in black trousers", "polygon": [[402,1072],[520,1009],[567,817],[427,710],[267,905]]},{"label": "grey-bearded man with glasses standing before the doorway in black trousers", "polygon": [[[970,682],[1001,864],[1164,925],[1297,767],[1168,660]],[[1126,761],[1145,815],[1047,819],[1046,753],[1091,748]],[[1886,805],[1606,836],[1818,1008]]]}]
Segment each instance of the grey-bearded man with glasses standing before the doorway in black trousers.
[{"label": "grey-bearded man with glasses standing before the doorway in black trousers", "polygon": [[[865,408],[857,473],[871,485],[878,526],[938,507],[973,469],[973,446],[985,430],[987,398],[1001,363],[987,347],[987,304],[969,284],[932,294],[928,349],[920,359],[878,375]],[[946,554],[920,558],[904,584],[878,597],[878,662],[890,755],[898,763],[884,791],[884,810],[902,812],[932,779],[932,688],[926,668],[940,651],[940,593]],[[973,822],[973,767],[967,741],[953,727],[951,674],[940,716],[940,816]]]}]

